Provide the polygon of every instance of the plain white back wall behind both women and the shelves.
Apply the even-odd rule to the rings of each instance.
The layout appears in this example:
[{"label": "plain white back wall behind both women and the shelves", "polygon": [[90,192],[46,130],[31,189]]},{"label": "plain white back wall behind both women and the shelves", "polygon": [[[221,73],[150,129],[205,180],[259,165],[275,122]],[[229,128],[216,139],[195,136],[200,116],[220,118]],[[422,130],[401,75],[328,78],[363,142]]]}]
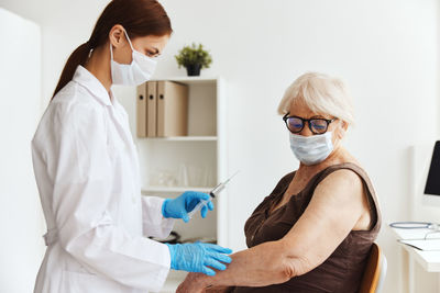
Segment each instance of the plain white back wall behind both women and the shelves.
[{"label": "plain white back wall behind both women and the shelves", "polygon": [[[309,70],[348,81],[358,126],[346,146],[376,185],[383,221],[407,217],[409,147],[430,143],[439,134],[438,1],[162,2],[175,34],[157,76],[185,75],[173,55],[185,44],[202,42],[213,56],[212,68],[202,75],[221,75],[228,82],[228,165],[231,171],[242,170],[231,184],[237,200],[231,209],[237,227],[230,230],[233,248],[244,246],[242,227],[255,205],[297,166],[276,106],[284,89]],[[42,25],[43,103],[68,54],[88,40],[105,4],[103,0],[0,0],[0,5]],[[403,292],[396,246],[385,227],[378,241],[389,261],[385,292]]]}]

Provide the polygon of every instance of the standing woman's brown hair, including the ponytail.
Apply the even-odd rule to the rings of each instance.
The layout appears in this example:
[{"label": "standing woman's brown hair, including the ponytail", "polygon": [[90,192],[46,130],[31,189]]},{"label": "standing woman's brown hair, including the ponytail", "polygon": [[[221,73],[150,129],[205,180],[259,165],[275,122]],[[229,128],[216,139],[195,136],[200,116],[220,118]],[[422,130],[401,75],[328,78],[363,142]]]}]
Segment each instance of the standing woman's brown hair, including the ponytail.
[{"label": "standing woman's brown hair, including the ponytail", "polygon": [[107,43],[116,24],[121,24],[130,38],[173,33],[169,18],[156,0],[112,0],[99,16],[89,41],[77,47],[67,59],[52,99],[72,80],[78,65],[85,65],[90,50]]}]

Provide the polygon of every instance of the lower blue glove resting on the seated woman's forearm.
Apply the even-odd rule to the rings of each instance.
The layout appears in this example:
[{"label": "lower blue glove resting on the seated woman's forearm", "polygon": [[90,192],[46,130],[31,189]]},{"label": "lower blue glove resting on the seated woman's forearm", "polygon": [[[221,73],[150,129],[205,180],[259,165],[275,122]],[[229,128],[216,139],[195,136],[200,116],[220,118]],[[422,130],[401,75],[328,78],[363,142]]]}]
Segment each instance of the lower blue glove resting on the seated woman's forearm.
[{"label": "lower blue glove resting on the seated woman's forearm", "polygon": [[229,248],[223,248],[213,244],[166,244],[172,257],[172,269],[187,272],[202,272],[215,275],[216,272],[208,268],[223,271],[227,269],[224,263],[231,263],[231,258],[224,253],[232,253]]}]

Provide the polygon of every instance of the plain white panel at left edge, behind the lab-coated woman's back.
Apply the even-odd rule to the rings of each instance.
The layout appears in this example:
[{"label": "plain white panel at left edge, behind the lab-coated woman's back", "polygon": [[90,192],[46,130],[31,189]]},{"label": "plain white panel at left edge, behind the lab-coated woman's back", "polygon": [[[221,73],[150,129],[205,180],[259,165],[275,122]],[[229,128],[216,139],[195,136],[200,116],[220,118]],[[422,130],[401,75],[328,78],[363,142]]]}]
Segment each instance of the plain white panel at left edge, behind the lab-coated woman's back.
[{"label": "plain white panel at left edge, behind the lab-coated woman's back", "polygon": [[32,292],[43,223],[31,161],[41,111],[40,27],[0,8],[0,292]]}]

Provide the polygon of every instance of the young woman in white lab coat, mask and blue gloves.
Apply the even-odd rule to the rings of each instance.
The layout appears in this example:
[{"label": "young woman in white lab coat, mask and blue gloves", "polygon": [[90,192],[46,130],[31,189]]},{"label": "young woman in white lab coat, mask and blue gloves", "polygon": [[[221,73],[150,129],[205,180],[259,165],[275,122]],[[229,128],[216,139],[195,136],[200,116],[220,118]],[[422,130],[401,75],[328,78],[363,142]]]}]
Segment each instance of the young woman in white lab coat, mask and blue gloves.
[{"label": "young woman in white lab coat, mask and blue gloves", "polygon": [[209,199],[141,196],[127,113],[110,89],[148,80],[170,33],[155,0],[113,0],[70,55],[32,140],[48,229],[35,293],[157,292],[169,269],[212,275],[231,261],[231,251],[217,245],[143,237],[166,237],[174,218],[187,222]]}]

